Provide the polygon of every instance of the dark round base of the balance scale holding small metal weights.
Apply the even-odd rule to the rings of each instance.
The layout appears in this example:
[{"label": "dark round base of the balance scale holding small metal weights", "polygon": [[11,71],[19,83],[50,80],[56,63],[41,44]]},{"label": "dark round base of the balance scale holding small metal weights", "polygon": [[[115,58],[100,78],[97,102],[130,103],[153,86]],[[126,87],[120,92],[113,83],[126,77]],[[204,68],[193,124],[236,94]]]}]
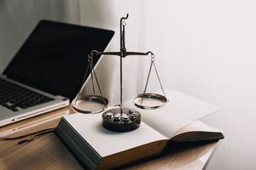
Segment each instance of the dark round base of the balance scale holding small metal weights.
[{"label": "dark round base of the balance scale holding small metal weights", "polygon": [[140,127],[140,124],[141,114],[132,109],[115,108],[102,114],[102,126],[113,132],[130,132]]}]

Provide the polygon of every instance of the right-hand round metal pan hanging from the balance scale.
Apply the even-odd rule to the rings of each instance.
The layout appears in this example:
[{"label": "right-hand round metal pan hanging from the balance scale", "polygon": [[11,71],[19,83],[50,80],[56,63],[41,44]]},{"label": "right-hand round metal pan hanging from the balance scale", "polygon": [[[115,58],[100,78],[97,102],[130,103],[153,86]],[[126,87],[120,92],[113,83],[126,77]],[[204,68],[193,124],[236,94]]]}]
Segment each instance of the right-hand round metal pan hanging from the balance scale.
[{"label": "right-hand round metal pan hanging from the balance scale", "polygon": [[133,100],[134,105],[141,109],[154,110],[165,105],[168,101],[165,96],[161,94],[138,94]]}]

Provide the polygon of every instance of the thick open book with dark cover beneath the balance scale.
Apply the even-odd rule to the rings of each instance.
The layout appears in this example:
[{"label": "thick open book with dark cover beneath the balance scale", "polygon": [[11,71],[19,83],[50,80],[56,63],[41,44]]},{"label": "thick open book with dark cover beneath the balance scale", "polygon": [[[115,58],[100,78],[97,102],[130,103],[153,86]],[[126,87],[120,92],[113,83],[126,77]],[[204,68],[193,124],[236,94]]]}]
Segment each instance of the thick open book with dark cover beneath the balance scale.
[{"label": "thick open book with dark cover beneath the balance scale", "polygon": [[217,129],[197,121],[219,108],[186,94],[167,90],[169,102],[156,110],[138,109],[132,100],[124,107],[142,114],[141,126],[127,133],[102,127],[102,114],[63,116],[56,133],[87,169],[108,169],[161,153],[172,141],[223,139]]}]

